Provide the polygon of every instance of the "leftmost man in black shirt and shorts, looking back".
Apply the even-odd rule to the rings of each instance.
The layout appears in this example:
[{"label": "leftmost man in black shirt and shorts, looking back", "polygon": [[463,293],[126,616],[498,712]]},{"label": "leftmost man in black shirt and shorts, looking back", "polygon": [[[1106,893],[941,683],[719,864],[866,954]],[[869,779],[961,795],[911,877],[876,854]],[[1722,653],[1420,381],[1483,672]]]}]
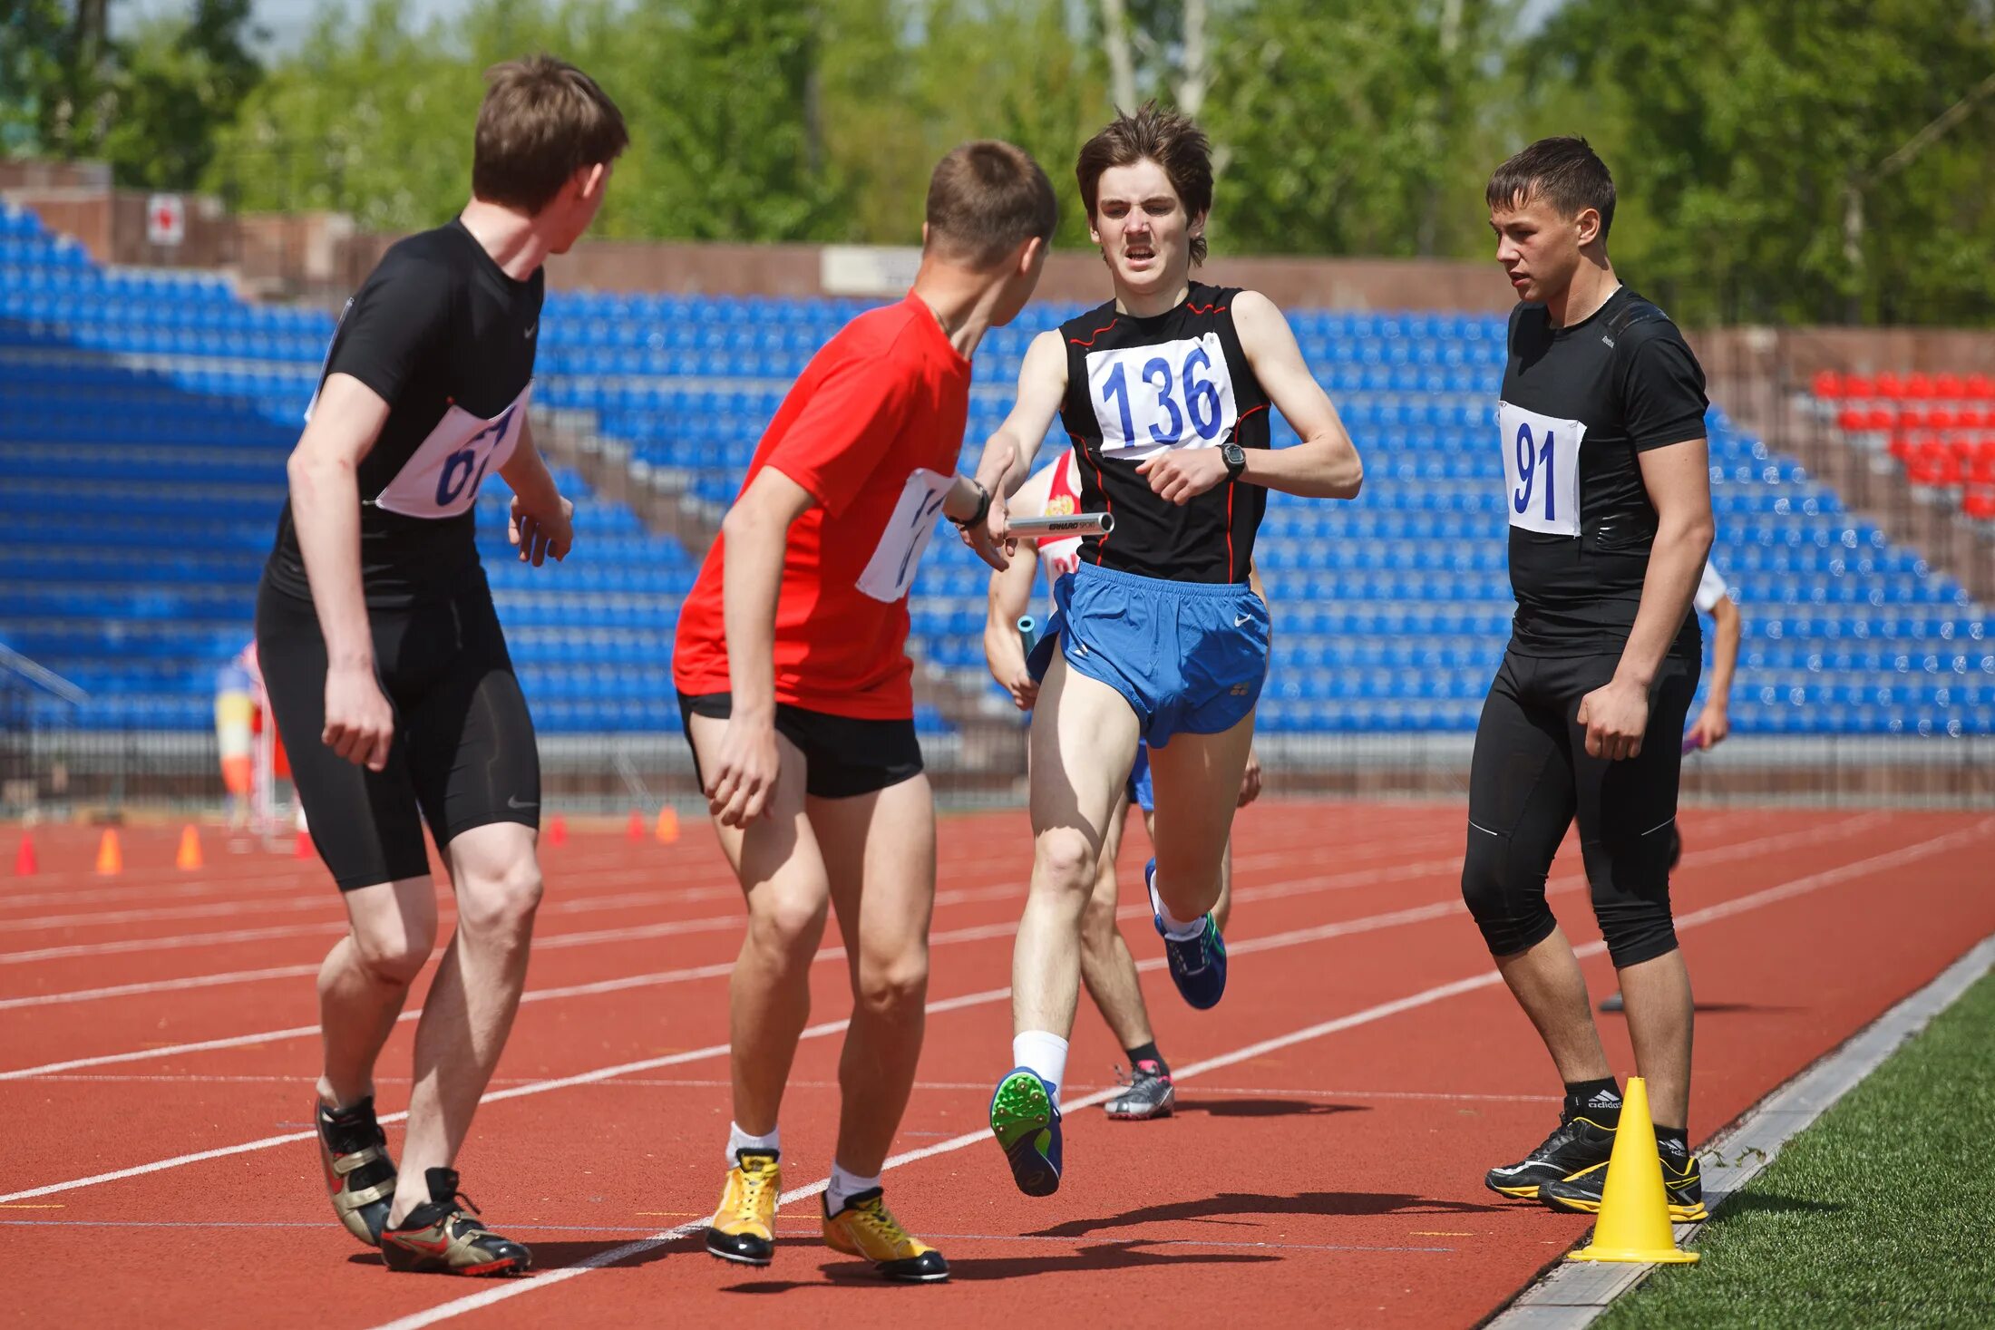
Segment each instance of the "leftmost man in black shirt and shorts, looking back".
[{"label": "leftmost man in black shirt and shorts, looking back", "polygon": [[[541,768],[475,500],[497,473],[521,560],[567,556],[573,504],[527,425],[541,261],[589,227],[628,142],[616,106],[561,60],[501,64],[487,82],[471,203],[389,249],[341,315],[257,592],[271,712],[351,925],[319,971],[313,1117],[333,1212],[391,1268],[457,1274],[533,1260],[459,1200],[451,1166],[513,1025],[541,899]],[[435,945],[423,822],[457,931],[415,1029],[397,1172],[373,1065]]]}]

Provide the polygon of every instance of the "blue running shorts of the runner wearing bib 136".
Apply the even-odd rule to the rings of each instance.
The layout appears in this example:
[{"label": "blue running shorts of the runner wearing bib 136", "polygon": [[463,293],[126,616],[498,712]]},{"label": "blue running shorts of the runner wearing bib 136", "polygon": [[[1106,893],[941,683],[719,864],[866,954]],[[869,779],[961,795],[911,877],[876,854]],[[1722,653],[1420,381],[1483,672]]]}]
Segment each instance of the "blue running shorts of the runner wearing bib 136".
[{"label": "blue running shorts of the runner wearing bib 136", "polygon": [[1247,582],[1169,582],[1081,564],[1053,582],[1053,616],[1031,652],[1043,678],[1067,666],[1127,698],[1143,742],[1223,734],[1261,700],[1267,604]]}]

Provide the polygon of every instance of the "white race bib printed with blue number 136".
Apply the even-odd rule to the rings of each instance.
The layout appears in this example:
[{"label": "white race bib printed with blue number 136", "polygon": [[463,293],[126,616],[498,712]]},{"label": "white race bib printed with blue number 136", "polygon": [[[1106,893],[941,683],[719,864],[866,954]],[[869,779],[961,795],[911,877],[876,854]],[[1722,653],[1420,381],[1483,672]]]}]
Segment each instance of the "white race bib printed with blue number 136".
[{"label": "white race bib printed with blue number 136", "polygon": [[1101,453],[1139,463],[1165,449],[1217,449],[1239,423],[1219,333],[1087,353]]}]

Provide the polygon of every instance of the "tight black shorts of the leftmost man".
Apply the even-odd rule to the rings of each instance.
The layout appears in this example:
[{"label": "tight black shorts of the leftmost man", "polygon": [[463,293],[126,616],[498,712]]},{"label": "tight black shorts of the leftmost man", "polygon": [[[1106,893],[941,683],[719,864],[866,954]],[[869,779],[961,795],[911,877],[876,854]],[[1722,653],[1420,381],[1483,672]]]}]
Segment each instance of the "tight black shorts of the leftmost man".
[{"label": "tight black shorts of the leftmost man", "polygon": [[541,824],[541,754],[483,570],[447,600],[371,608],[375,674],[395,708],[387,768],[337,756],[325,730],[325,638],[311,602],[257,590],[255,642],[311,843],[341,891],[423,877],[423,822],[443,849],[493,822]]}]

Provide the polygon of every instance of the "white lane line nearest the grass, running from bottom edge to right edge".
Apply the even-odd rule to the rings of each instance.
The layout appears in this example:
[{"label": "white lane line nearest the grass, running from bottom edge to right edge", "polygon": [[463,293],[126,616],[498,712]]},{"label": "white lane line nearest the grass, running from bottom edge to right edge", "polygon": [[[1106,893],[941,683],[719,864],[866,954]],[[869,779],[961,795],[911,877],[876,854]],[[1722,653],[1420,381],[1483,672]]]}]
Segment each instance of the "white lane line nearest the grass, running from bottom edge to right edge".
[{"label": "white lane line nearest the grass, running from bottom edge to right edge", "polygon": [[[1981,835],[1983,831],[1987,831],[1987,828],[1989,828],[1989,824],[1983,822],[1983,824],[1979,824],[1975,828],[1969,828],[1969,830],[1963,830],[1963,831],[1955,831],[1951,835],[1941,835],[1941,837],[1937,837],[1933,841],[1921,841],[1917,845],[1907,845],[1907,847],[1891,851],[1891,853],[1873,855],[1865,863],[1869,865],[1869,869],[1895,867],[1897,863],[1905,863],[1905,861],[1915,859],[1915,857],[1925,857],[1927,853],[1939,853],[1939,847],[1951,847],[1959,839],[1971,839],[1973,835]],[[1849,865],[1849,867],[1855,867],[1855,865]],[[1780,887],[1770,887],[1768,891],[1756,891],[1752,895],[1742,895],[1736,901],[1728,901],[1730,909],[1726,909],[1724,913],[1714,913],[1718,909],[1718,907],[1714,907],[1714,911],[1698,911],[1694,915],[1686,915],[1684,919],[1678,919],[1678,927],[1696,927],[1696,923],[1706,923],[1710,919],[1728,917],[1730,913],[1738,913],[1740,909],[1752,909],[1754,905],[1782,901],[1782,899],[1788,899],[1788,897],[1797,895],[1801,891],[1811,891],[1811,889],[1819,889],[1819,887],[1831,885],[1833,881],[1843,881],[1845,877],[1847,877],[1847,873],[1839,873],[1835,869],[1831,869],[1827,873],[1813,873],[1809,877],[1797,877],[1796,881],[1782,883]],[[1813,883],[1813,885],[1803,885],[1803,883]],[[1606,943],[1588,943],[1584,947],[1576,947],[1576,951],[1580,951],[1582,955],[1596,955],[1600,951],[1606,951]],[[1353,1029],[1357,1025],[1369,1025],[1373,1021],[1383,1021],[1383,1019],[1398,1015],[1402,1011],[1414,1011],[1418,1007],[1426,1007],[1430,1003],[1444,1001],[1448,997],[1456,997],[1456,995],[1462,995],[1462,993],[1474,993],[1476,989],[1486,989],[1486,987],[1492,987],[1492,985],[1500,983],[1500,979],[1502,977],[1496,971],[1486,971],[1482,975],[1472,975],[1468,979],[1458,979],[1456,983],[1434,985],[1430,989],[1422,989],[1420,993],[1412,993],[1412,995],[1400,997],[1396,1001],[1379,1003],[1375,1007],[1367,1007],[1365,1011],[1353,1011],[1351,1015],[1337,1017],[1333,1021],[1323,1021],[1319,1025],[1309,1025],[1309,1027],[1293,1031],[1289,1035],[1279,1035],[1275,1039],[1263,1039],[1263,1041],[1251,1043],[1251,1045],[1247,1045],[1243,1049],[1235,1049],[1233,1053],[1223,1053],[1219,1057],[1209,1057],[1205,1061],[1191,1063],[1187,1067],[1175,1069],[1171,1073],[1171,1077],[1177,1079],[1177,1081],[1191,1081],[1195,1077],[1205,1075],[1207,1071],[1217,1071],[1221,1067],[1233,1067],[1235,1063],[1245,1063],[1249,1059],[1261,1057],[1265,1053],[1275,1053],[1279,1049],[1287,1049],[1287,1047],[1297,1045],[1297,1043],[1309,1043],[1313,1039],[1321,1039],[1325,1035],[1333,1035],[1333,1033],[1339,1033],[1339,1031],[1345,1031],[1345,1029]],[[1077,1099],[1077,1101],[1073,1101],[1069,1105],[1063,1105],[1063,1111],[1071,1113],[1075,1109],[1085,1109],[1085,1107],[1091,1107],[1091,1105],[1097,1105],[1097,1103],[1105,1103],[1113,1095],[1115,1095],[1115,1091],[1099,1091],[1095,1095],[1087,1095],[1085,1099]],[[934,1159],[936,1155],[948,1155],[948,1153],[954,1153],[954,1151],[962,1151],[966,1147],[978,1145],[980,1141],[988,1141],[988,1139],[990,1139],[990,1131],[988,1129],[986,1131],[970,1131],[970,1133],[964,1133],[960,1137],[952,1137],[948,1141],[940,1141],[936,1145],[924,1147],[920,1151],[906,1151],[902,1155],[894,1155],[892,1159],[886,1161],[886,1164],[882,1168],[898,1168],[898,1166],[904,1166],[904,1164],[920,1163],[924,1159]],[[778,1204],[788,1204],[788,1202],[802,1200],[806,1196],[816,1196],[826,1186],[830,1186],[830,1178],[818,1178],[810,1186],[798,1186],[794,1190],[784,1192]],[[0,1196],[0,1200],[6,1200],[6,1198]],[[519,1282],[513,1282],[513,1284],[499,1284],[499,1286],[487,1288],[483,1292],[469,1294],[465,1298],[453,1298],[451,1302],[445,1302],[441,1306],[433,1306],[429,1310],[415,1312],[411,1316],[401,1316],[397,1320],[383,1322],[383,1324],[375,1326],[373,1330],[423,1330],[423,1326],[433,1326],[433,1324],[443,1322],[443,1320],[453,1320],[457,1316],[465,1316],[469,1312],[477,1312],[481,1308],[493,1306],[497,1302],[505,1302],[509,1298],[519,1298],[519,1296],[525,1296],[529,1292],[539,1292],[543,1288],[553,1288],[555,1284],[563,1284],[563,1282],[567,1282],[571,1278],[581,1278],[583,1274],[589,1274],[591,1270],[600,1270],[604,1266],[614,1266],[614,1264],[618,1264],[622,1260],[628,1260],[632,1256],[642,1256],[644,1252],[656,1250],[656,1248],[666,1246],[670,1242],[676,1242],[676,1240],[680,1240],[684,1236],[690,1236],[690,1234],[698,1232],[704,1226],[706,1226],[704,1218],[694,1220],[690,1224],[678,1224],[676,1228],[666,1228],[666,1230],[654,1232],[654,1234],[650,1234],[646,1238],[638,1238],[634,1242],[624,1242],[622,1246],[610,1248],[606,1252],[598,1252],[598,1254],[589,1256],[587,1260],[581,1260],[581,1262],[577,1262],[573,1266],[563,1266],[559,1270],[539,1272],[531,1280],[519,1280]]]}]

